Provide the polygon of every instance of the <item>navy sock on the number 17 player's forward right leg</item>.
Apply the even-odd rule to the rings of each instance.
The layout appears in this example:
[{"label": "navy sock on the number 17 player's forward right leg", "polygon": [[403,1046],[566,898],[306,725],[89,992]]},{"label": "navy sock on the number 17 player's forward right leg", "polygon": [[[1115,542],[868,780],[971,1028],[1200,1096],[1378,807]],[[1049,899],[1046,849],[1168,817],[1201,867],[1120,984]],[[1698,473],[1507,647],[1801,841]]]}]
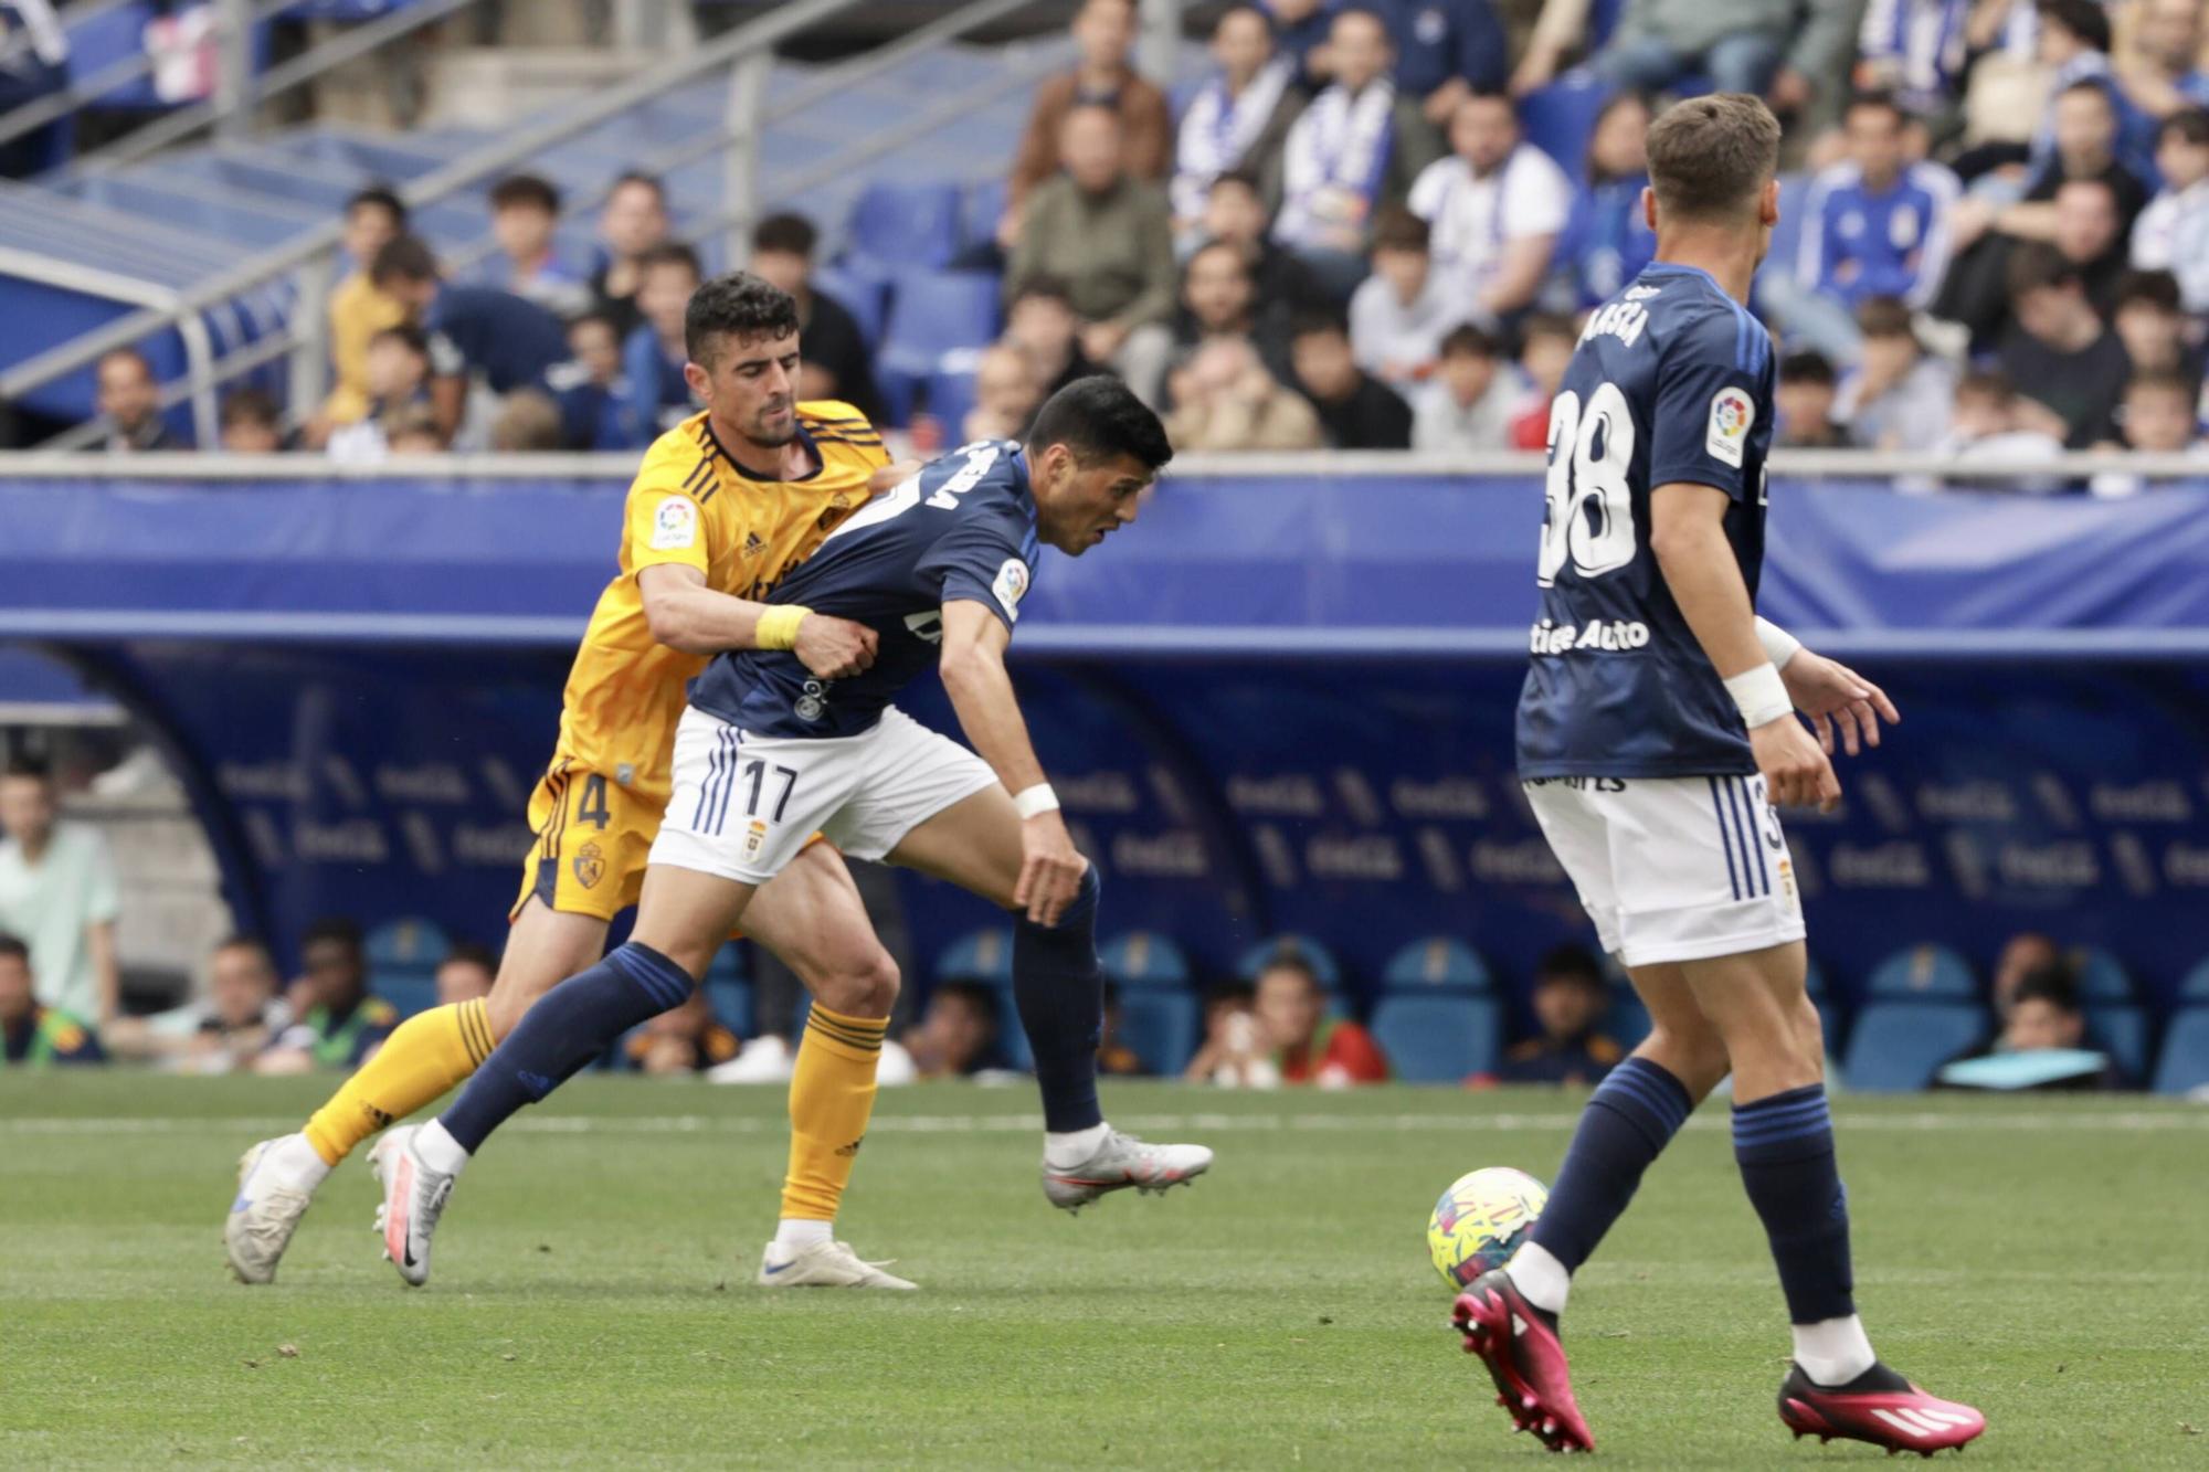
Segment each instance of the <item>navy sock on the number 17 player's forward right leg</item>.
[{"label": "navy sock on the number 17 player's forward right leg", "polygon": [[1104,1123],[1098,1043],[1104,1041],[1104,968],[1098,966],[1098,871],[1082,873],[1074,904],[1045,930],[1012,926],[1012,1001],[1036,1054],[1043,1127],[1069,1134]]}]

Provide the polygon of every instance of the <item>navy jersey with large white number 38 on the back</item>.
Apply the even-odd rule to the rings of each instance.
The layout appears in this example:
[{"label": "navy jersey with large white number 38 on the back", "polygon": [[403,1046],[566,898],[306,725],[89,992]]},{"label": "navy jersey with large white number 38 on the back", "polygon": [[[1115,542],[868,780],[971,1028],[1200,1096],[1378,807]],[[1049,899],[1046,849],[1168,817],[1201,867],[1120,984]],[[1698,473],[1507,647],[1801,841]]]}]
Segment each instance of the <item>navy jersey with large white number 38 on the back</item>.
[{"label": "navy jersey with large white number 38 on the back", "polygon": [[1650,491],[1734,500],[1725,539],[1754,601],[1769,446],[1772,336],[1708,272],[1657,261],[1588,318],[1549,411],[1522,778],[1756,771],[1650,553]]}]

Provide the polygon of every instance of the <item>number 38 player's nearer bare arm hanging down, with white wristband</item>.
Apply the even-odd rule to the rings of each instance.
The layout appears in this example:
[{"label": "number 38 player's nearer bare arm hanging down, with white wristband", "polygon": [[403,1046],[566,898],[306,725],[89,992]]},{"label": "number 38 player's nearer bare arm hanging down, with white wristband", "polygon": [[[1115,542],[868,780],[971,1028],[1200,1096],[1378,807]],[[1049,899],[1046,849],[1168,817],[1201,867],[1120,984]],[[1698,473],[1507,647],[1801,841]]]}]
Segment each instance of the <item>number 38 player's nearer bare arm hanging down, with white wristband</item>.
[{"label": "number 38 player's nearer bare arm hanging down, with white wristband", "polygon": [[1732,495],[1719,486],[1668,482],[1650,493],[1650,553],[1681,617],[1719,670],[1750,729],[1750,749],[1772,802],[1831,811],[1840,802],[1833,765],[1794,718],[1780,672],[1756,639],[1756,610],[1725,539]]}]

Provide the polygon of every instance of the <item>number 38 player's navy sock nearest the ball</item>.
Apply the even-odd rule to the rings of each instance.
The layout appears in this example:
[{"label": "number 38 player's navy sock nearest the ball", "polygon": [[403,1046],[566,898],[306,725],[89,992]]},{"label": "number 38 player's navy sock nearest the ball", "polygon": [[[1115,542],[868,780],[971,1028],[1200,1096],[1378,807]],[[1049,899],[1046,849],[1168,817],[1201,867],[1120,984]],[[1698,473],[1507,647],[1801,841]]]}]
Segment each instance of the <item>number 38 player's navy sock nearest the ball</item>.
[{"label": "number 38 player's navy sock nearest the ball", "polygon": [[1639,1056],[1613,1068],[1588,1096],[1557,1167],[1557,1185],[1529,1238],[1568,1273],[1577,1271],[1626,1211],[1641,1187],[1641,1171],[1672,1143],[1690,1110],[1694,1098],[1670,1070]]}]

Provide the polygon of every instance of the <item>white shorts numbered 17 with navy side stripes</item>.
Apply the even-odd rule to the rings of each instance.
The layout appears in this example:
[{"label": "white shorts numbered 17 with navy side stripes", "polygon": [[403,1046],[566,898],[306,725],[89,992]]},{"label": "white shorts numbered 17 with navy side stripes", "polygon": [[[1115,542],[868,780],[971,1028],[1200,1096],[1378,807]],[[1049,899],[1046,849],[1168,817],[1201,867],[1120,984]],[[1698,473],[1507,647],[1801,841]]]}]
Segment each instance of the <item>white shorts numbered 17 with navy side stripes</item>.
[{"label": "white shorts numbered 17 with navy side stripes", "polygon": [[857,736],[747,736],[696,705],[676,727],[674,796],[654,864],[767,884],[813,833],[879,860],[992,787],[990,765],[899,709]]}]

